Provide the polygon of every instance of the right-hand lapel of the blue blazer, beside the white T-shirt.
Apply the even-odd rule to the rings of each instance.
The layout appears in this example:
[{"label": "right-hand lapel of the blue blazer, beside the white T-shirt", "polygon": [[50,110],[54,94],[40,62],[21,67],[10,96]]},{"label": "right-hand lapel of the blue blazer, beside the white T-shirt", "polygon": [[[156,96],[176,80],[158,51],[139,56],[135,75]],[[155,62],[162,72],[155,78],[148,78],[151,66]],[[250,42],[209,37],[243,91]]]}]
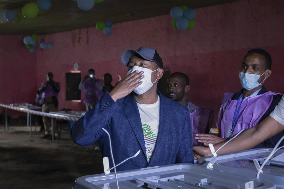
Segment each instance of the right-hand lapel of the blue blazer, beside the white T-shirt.
[{"label": "right-hand lapel of the blue blazer, beside the white T-shirt", "polygon": [[164,97],[159,91],[158,91],[158,94],[160,96],[159,132],[158,132],[155,149],[148,163],[148,166],[151,166],[151,163],[157,162],[159,161],[160,158],[162,158],[161,157],[162,153],[160,153],[160,151],[164,144],[166,136],[168,135],[168,132],[170,130],[170,123],[167,121],[168,117],[170,117],[170,113],[169,113],[170,108],[164,101],[166,97]]}]

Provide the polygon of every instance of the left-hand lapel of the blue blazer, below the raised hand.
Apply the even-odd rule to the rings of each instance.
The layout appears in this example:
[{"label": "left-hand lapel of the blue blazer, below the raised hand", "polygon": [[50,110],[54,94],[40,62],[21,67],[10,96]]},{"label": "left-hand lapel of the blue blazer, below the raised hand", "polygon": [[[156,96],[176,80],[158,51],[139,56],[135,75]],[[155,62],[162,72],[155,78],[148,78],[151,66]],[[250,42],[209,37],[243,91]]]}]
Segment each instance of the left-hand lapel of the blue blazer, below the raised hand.
[{"label": "left-hand lapel of the blue blazer, below the raised hand", "polygon": [[[145,147],[145,141],[144,141],[144,135],[142,130],[142,123],[141,118],[139,114],[139,110],[136,104],[136,100],[132,95],[128,95],[125,97],[125,100],[123,103],[126,105],[123,107],[123,111],[130,123],[130,126],[141,146],[141,149],[144,153],[144,157],[147,161],[147,155],[146,155],[146,147]],[[134,116],[138,115],[138,116]]]}]

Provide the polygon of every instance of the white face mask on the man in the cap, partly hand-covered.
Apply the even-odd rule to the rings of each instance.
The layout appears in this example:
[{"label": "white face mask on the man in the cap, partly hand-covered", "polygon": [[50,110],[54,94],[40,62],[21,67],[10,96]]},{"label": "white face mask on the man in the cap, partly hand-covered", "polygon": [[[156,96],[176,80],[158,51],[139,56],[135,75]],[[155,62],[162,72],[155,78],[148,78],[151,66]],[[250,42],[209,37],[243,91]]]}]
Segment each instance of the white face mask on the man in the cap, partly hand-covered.
[{"label": "white face mask on the man in the cap, partly hand-covered", "polygon": [[[156,69],[154,71],[157,71],[158,69]],[[139,66],[133,66],[132,69],[130,69],[127,72],[127,75],[131,74],[135,70],[138,70],[138,72],[144,71],[144,73],[143,73],[144,77],[141,79],[142,84],[139,85],[138,87],[136,87],[133,91],[136,94],[143,94],[153,86],[153,83],[155,83],[157,81],[157,79],[152,83],[151,82],[151,75],[152,75],[153,71],[150,70],[150,69],[147,69],[147,68],[139,67]]]}]

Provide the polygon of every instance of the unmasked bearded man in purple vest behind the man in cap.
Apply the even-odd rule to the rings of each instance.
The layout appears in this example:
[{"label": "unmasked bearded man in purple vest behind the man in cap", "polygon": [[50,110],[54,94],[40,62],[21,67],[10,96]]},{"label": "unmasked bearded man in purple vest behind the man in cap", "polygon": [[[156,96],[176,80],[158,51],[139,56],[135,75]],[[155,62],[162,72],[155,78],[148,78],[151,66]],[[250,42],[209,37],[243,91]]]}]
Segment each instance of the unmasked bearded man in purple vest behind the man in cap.
[{"label": "unmasked bearded man in purple vest behind the man in cap", "polygon": [[209,133],[212,121],[214,118],[214,111],[198,107],[191,103],[186,98],[186,93],[189,91],[189,79],[186,74],[175,72],[167,79],[167,93],[170,99],[180,103],[190,110],[192,143],[194,146],[202,145],[195,139],[196,133]]}]

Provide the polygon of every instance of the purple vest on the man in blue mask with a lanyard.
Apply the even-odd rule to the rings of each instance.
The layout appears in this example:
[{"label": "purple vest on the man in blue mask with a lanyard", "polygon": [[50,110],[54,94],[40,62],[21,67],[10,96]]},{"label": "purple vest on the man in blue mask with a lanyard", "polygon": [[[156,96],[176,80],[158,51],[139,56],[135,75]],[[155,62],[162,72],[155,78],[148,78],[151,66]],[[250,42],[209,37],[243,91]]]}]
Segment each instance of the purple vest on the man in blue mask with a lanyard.
[{"label": "purple vest on the man in blue mask with a lanyard", "polygon": [[[235,93],[225,93],[217,118],[216,126],[219,131],[219,137],[228,138],[233,126],[233,117],[238,100],[232,100]],[[251,128],[259,122],[266,110],[270,107],[273,96],[279,94],[268,91],[251,98],[243,100],[241,103],[239,116],[233,136],[243,129]],[[239,104],[238,104],[239,106]]]}]

